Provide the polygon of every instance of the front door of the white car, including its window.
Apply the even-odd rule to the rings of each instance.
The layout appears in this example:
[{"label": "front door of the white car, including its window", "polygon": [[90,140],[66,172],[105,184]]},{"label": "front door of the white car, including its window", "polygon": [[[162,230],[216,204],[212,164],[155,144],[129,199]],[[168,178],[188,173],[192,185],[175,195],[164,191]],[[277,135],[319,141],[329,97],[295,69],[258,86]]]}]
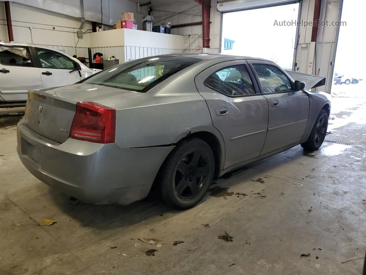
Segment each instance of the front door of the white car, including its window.
[{"label": "front door of the white car, including its window", "polygon": [[77,62],[51,49],[36,48],[40,64],[42,87],[70,85],[81,80]]}]

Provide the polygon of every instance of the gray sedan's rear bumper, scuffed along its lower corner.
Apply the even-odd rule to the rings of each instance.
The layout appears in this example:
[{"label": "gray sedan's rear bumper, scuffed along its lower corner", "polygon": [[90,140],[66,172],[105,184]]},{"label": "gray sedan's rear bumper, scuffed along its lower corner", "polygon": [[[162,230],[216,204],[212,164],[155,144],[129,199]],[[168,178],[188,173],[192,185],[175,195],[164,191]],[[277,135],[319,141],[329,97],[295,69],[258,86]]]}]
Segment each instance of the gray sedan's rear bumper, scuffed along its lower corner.
[{"label": "gray sedan's rear bumper, scuffed along its lower corner", "polygon": [[174,146],[120,149],[68,139],[60,144],[32,131],[25,119],[17,129],[23,165],[47,185],[97,204],[127,205],[145,198]]}]

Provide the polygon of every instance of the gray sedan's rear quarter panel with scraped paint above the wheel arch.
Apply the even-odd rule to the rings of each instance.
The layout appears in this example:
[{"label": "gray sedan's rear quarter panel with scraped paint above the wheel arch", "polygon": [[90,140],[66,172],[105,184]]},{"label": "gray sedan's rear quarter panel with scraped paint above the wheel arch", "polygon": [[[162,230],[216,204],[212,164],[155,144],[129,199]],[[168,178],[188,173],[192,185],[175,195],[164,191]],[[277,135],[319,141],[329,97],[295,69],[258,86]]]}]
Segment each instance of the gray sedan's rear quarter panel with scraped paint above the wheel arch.
[{"label": "gray sedan's rear quarter panel with scraped paint above the wheel arch", "polygon": [[175,144],[191,133],[207,131],[219,139],[224,153],[222,136],[213,127],[206,101],[195,86],[195,74],[183,71],[116,106],[119,148]]}]

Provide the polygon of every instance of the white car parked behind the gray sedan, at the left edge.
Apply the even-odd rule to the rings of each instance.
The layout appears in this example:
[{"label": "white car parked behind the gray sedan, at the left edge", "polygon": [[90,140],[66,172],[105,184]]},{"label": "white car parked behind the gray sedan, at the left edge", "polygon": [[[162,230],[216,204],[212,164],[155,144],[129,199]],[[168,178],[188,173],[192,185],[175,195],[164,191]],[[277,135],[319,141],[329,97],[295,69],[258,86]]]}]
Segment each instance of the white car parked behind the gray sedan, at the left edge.
[{"label": "white car parked behind the gray sedan, at the left edge", "polygon": [[69,85],[96,72],[54,49],[0,43],[0,105],[25,104],[30,89]]}]

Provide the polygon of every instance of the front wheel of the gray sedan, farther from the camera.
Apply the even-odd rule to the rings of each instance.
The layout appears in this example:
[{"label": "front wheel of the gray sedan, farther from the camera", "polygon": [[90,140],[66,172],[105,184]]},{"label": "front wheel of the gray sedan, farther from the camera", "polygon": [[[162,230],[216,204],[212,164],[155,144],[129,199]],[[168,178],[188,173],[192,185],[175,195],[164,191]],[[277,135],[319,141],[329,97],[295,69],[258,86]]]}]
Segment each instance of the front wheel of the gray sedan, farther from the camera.
[{"label": "front wheel of the gray sedan, farther from the camera", "polygon": [[306,151],[316,151],[323,144],[326,130],[328,129],[328,113],[325,110],[321,110],[317,120],[314,123],[313,129],[311,129],[309,138],[305,143],[301,144]]}]

